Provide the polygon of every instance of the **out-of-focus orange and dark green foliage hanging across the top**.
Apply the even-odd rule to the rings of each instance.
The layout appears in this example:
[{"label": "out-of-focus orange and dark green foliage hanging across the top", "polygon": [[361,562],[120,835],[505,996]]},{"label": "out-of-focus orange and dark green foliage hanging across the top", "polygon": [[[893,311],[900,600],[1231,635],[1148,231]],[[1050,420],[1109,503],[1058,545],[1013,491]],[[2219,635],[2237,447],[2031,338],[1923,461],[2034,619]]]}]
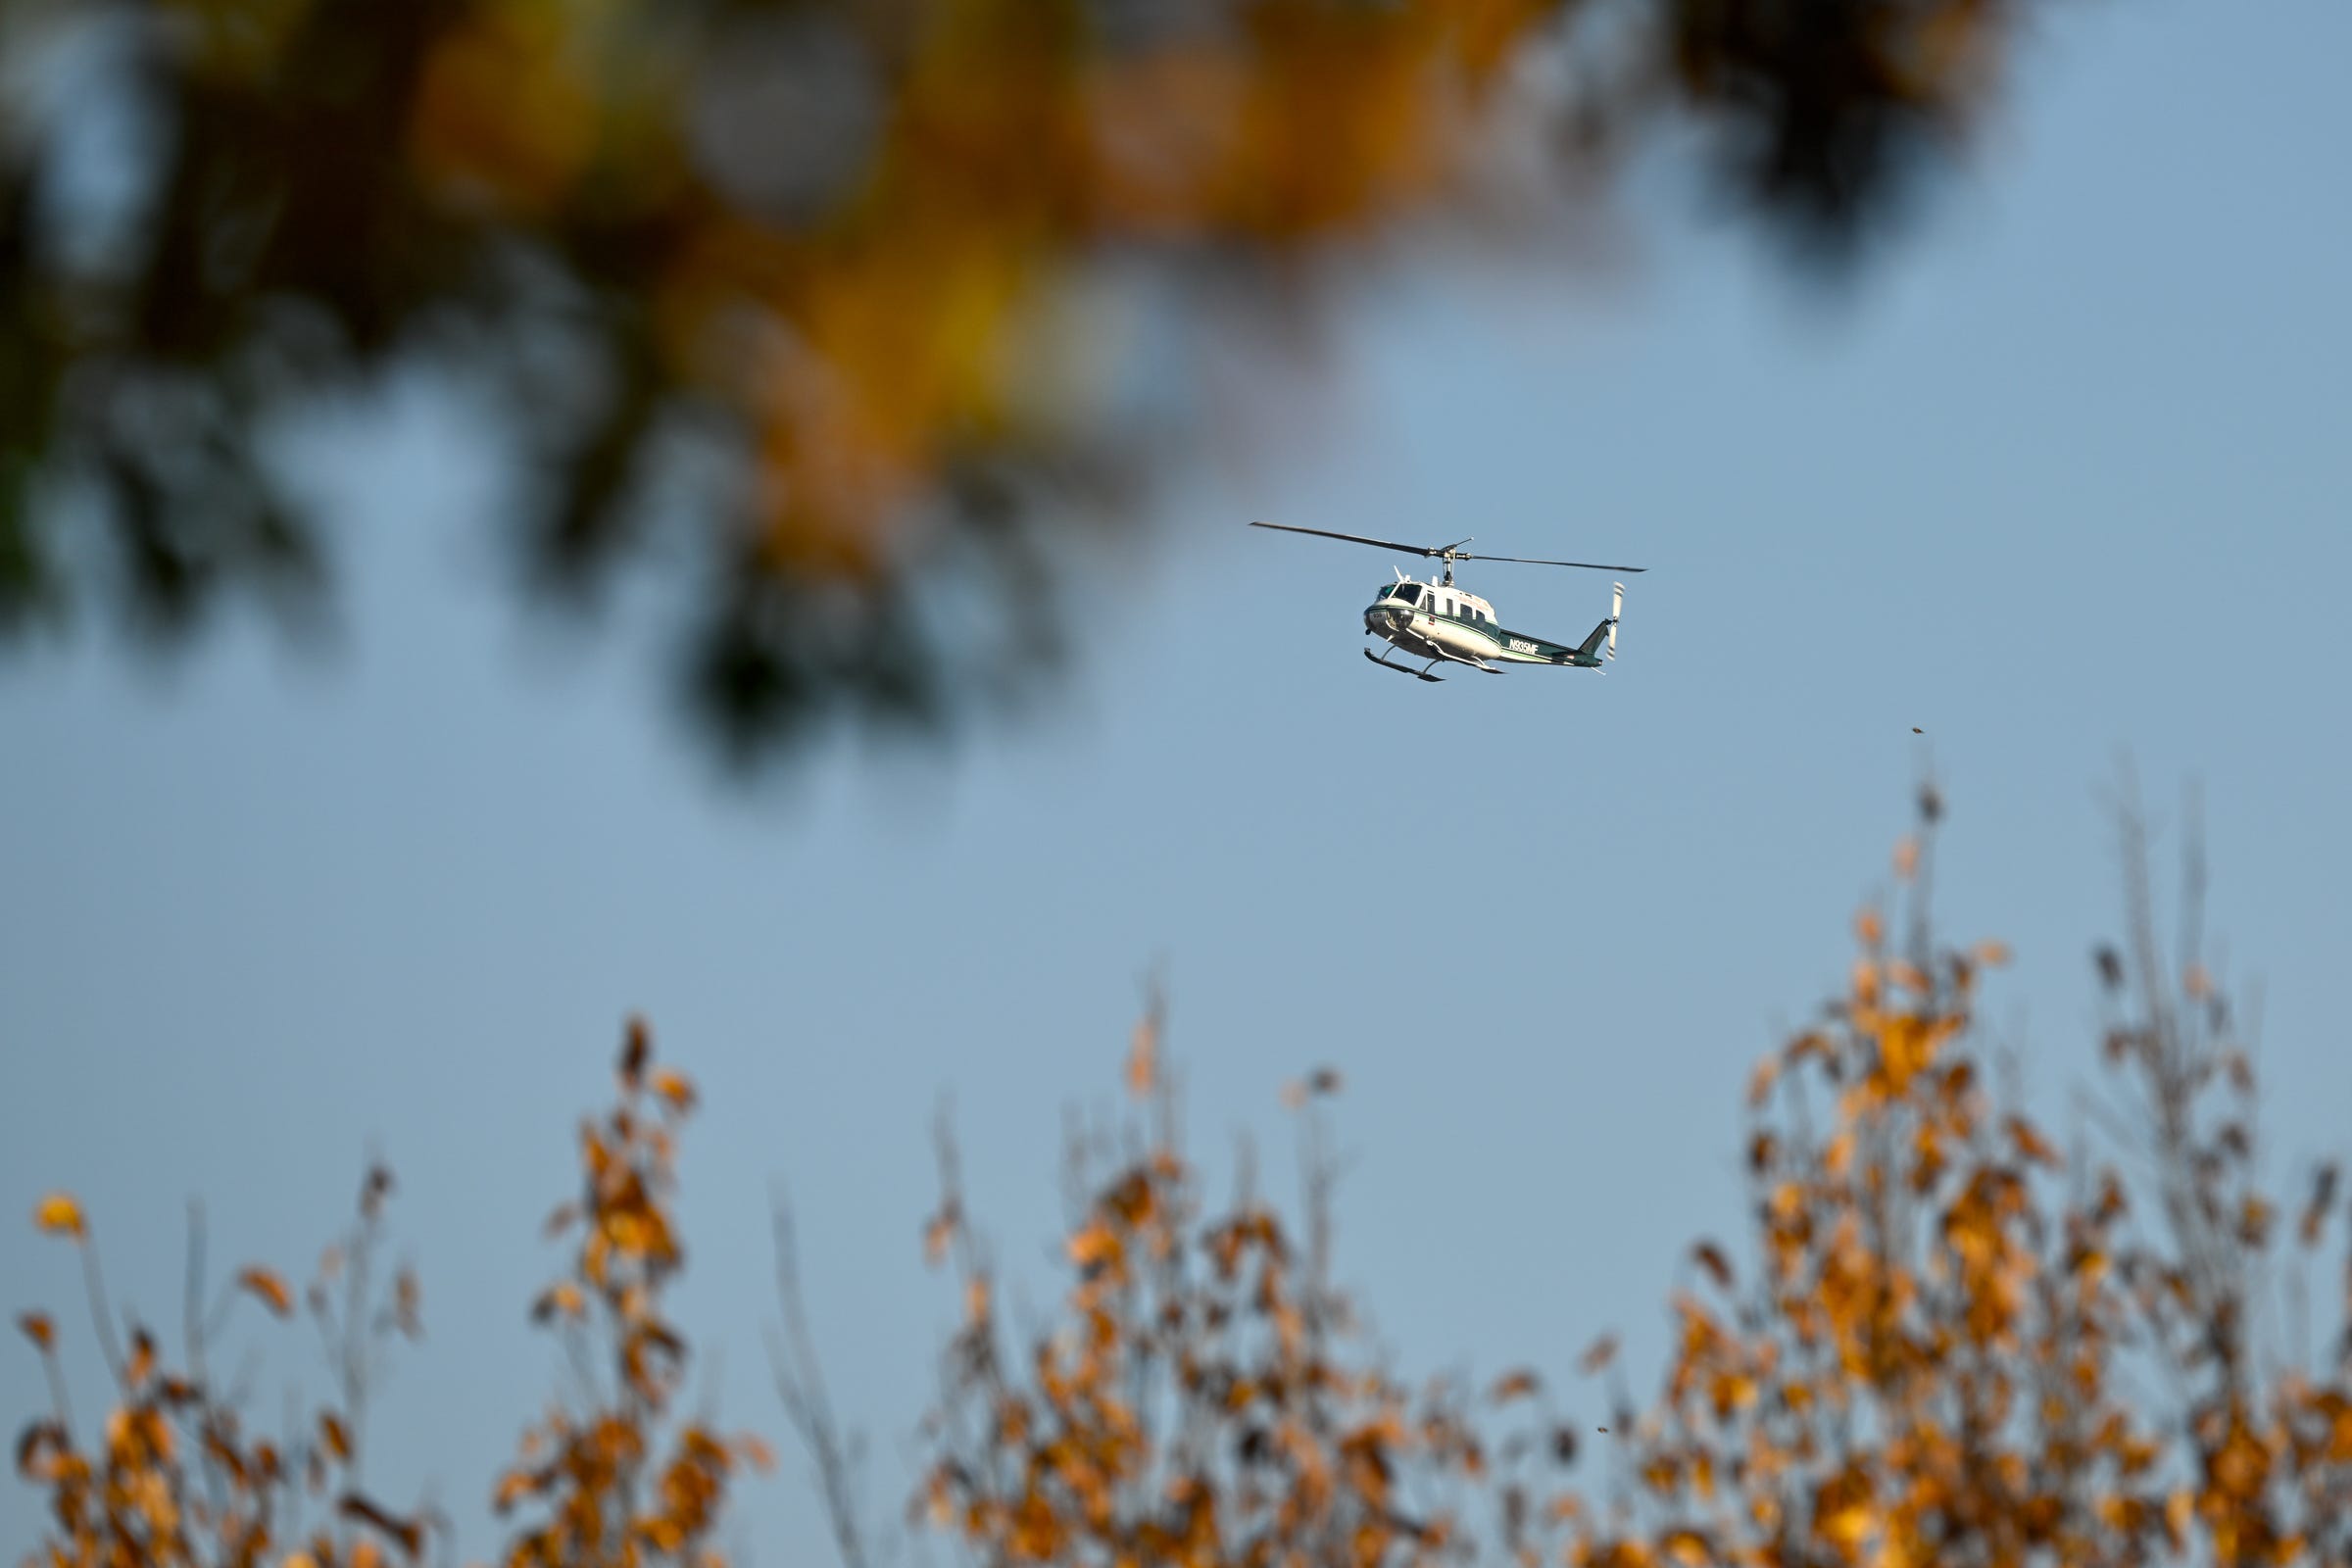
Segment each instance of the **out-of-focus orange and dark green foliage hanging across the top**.
[{"label": "out-of-focus orange and dark green foliage hanging across the top", "polygon": [[[1051,651],[1211,320],[1501,228],[1696,122],[1816,259],[1985,99],[2027,0],[7,0],[0,635],[315,607],[273,437],[442,376],[506,545],[668,562],[746,757]],[[680,567],[682,562],[682,567]]]}]

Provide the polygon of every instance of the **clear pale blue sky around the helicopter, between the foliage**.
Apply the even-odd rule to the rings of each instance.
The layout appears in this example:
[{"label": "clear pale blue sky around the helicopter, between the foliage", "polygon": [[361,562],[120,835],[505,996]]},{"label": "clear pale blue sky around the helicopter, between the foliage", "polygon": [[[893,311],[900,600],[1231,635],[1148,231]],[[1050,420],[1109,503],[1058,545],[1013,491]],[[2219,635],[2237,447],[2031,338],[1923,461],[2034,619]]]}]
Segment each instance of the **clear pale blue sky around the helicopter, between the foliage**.
[{"label": "clear pale blue sky around the helicopter, between the foliage", "polygon": [[[0,665],[5,1305],[59,1309],[87,1373],[40,1192],[169,1319],[188,1197],[223,1265],[301,1272],[379,1147],[430,1331],[376,1413],[383,1490],[437,1479],[487,1554],[482,1488],[555,1387],[536,1222],[642,1009],[710,1093],[680,1314],[722,1413],[783,1432],[786,1182],[894,1512],[955,1312],[920,1262],[931,1114],[1040,1300],[1063,1107],[1112,1103],[1157,969],[1211,1168],[1242,1133],[1287,1168],[1279,1084],[1345,1072],[1343,1276],[1406,1368],[1566,1373],[1618,1328],[1646,1378],[1677,1255],[1738,1229],[1745,1067],[1839,983],[1924,764],[1947,929],[2016,947],[1987,1013],[2060,1131],[2129,755],[2173,827],[2204,792],[2272,1168],[2340,1152],[2347,52],[2336,0],[2065,7],[1835,308],[1686,188],[1637,193],[1613,282],[1369,287],[1312,440],[1200,475],[1145,567],[1096,574],[1058,703],[757,795],[661,717],[642,646],[513,614],[456,416],[395,407],[327,665],[249,625],[162,675],[92,639]],[[1249,517],[1651,571],[1604,677],[1432,689],[1355,654],[1388,557]],[[1505,571],[1468,581],[1510,625],[1606,607]],[[275,1345],[266,1408],[325,1385]],[[0,1408],[38,1401],[0,1354]],[[762,1561],[823,1549],[797,1465],[743,1521]],[[0,1537],[33,1528],[0,1486]]]}]

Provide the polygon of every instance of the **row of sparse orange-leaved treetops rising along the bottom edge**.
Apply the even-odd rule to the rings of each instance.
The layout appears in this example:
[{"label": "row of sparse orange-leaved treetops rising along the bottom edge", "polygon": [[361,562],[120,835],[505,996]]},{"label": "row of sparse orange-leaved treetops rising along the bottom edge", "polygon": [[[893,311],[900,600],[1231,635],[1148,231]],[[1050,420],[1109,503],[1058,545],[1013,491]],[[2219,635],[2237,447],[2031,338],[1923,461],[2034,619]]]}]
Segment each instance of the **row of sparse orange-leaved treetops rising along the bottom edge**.
[{"label": "row of sparse orange-leaved treetops rising along the bottom edge", "polygon": [[[2159,947],[2138,879],[2129,943],[2098,954],[2110,1016],[2089,1126],[2060,1147],[1976,1020],[2004,950],[1933,940],[1938,811],[1926,795],[1898,851],[1900,907],[1856,919],[1844,994],[1757,1065],[1750,1229],[1691,1246],[1649,1408],[1592,1429],[1534,1371],[1406,1382],[1334,1284],[1338,1074],[1287,1091],[1298,1197],[1244,1171],[1211,1204],[1155,1011],[1129,1048],[1129,1112],[1073,1140],[1061,1300],[1023,1331],[941,1133],[922,1246],[955,1281],[960,1328],[908,1519],[990,1568],[2352,1561],[2352,1276],[2324,1345],[2274,1312],[2281,1281],[2307,1286],[2343,1246],[2336,1168],[2291,1204],[2256,1180],[2246,1041],[2194,943]],[[633,1025],[616,1105],[581,1133],[581,1194],[550,1222],[572,1267],[532,1305],[576,1387],[487,1488],[510,1568],[717,1563],[729,1488],[767,1462],[673,1413],[687,1345],[663,1314],[684,1262],[668,1194],[691,1105]],[[367,1178],[303,1293],[334,1396],[273,1436],[247,1427],[205,1345],[223,1312],[292,1314],[294,1291],[245,1269],[205,1314],[198,1265],[167,1363],[146,1326],[115,1342],[80,1206],[40,1201],[35,1225],[82,1248],[115,1387],[101,1427],[78,1429],[59,1328],[19,1319],[54,1387],[16,1448],[49,1509],[31,1561],[365,1568],[447,1540],[362,1483],[365,1352],[419,1312],[407,1274],[369,1284],[388,1192]],[[804,1342],[795,1288],[786,1258]],[[1602,1335],[1578,1371],[1613,1352]],[[814,1363],[790,1361],[783,1387],[863,1568],[880,1535],[840,1483]]]}]

